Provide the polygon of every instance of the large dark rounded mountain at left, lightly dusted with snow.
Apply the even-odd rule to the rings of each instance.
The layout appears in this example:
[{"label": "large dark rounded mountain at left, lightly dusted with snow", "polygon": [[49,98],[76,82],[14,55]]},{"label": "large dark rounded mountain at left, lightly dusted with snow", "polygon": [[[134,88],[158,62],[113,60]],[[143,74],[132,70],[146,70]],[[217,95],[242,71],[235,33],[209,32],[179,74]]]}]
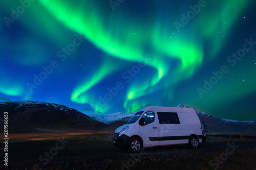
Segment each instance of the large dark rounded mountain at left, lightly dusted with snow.
[{"label": "large dark rounded mountain at left, lightly dusted with snow", "polygon": [[2,102],[0,108],[2,112],[8,112],[8,128],[14,132],[37,131],[38,128],[93,131],[97,126],[104,125],[76,109],[54,103]]}]

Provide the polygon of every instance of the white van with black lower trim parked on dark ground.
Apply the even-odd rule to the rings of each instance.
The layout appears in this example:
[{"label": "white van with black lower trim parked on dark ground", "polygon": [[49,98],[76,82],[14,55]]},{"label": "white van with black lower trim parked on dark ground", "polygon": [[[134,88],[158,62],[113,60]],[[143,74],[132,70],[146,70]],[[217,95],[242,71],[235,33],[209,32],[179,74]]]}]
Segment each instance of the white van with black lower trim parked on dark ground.
[{"label": "white van with black lower trim parked on dark ground", "polygon": [[197,109],[148,106],[115,130],[113,145],[132,152],[158,145],[184,143],[196,149],[205,139],[206,133]]}]

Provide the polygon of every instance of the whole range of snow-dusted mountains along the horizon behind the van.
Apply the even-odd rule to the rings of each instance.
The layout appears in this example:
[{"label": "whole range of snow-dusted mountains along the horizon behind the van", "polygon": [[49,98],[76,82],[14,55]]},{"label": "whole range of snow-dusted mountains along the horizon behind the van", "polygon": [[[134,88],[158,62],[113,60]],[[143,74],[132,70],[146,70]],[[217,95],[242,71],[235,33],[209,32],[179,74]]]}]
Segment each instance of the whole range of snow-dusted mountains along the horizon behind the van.
[{"label": "whole range of snow-dusted mountains along the horizon behind the van", "polygon": [[[177,107],[188,108],[184,104]],[[54,103],[22,101],[2,102],[1,112],[8,112],[8,128],[13,133],[22,132],[98,132],[114,131],[126,124],[134,113],[108,115],[83,114],[80,111]],[[238,134],[256,132],[256,121],[227,120],[199,111],[208,134]],[[0,119],[0,128],[4,127]]]}]

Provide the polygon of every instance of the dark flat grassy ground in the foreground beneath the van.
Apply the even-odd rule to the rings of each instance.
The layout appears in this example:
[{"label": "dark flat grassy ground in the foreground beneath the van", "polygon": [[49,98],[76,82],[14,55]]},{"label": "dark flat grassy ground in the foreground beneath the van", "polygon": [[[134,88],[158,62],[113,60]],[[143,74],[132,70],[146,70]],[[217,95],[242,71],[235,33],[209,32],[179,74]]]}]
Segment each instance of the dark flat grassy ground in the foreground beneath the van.
[{"label": "dark flat grassy ground in the foreground beneath the van", "polygon": [[[110,137],[111,135],[111,137]],[[256,141],[210,137],[197,150],[154,147],[131,154],[112,145],[112,133],[12,135],[8,167],[0,169],[255,169]],[[58,139],[59,138],[59,139]]]}]

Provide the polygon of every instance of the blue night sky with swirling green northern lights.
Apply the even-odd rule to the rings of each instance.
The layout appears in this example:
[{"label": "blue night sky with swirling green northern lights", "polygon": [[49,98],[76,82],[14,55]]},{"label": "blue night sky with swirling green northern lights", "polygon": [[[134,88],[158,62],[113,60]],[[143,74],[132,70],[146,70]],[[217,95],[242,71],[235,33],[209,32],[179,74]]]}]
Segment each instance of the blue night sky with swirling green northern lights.
[{"label": "blue night sky with swirling green northern lights", "polygon": [[0,1],[0,102],[180,103],[256,120],[254,0]]}]

